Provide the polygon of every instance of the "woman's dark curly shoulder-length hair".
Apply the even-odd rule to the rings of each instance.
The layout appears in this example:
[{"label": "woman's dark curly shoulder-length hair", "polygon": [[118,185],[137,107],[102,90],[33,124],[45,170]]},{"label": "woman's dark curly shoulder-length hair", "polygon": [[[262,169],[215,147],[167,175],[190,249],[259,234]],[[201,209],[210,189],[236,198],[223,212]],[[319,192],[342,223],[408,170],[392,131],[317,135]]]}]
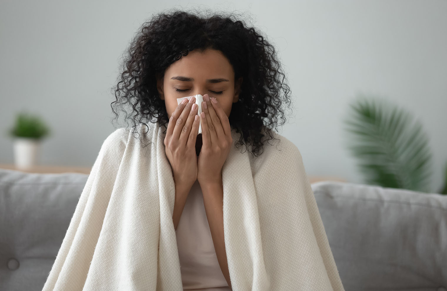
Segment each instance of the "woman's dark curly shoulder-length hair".
[{"label": "woman's dark curly shoulder-length hair", "polygon": [[163,78],[165,70],[190,51],[217,49],[233,66],[235,80],[243,77],[239,101],[232,104],[229,116],[230,126],[240,133],[236,147],[245,144],[254,156],[261,155],[266,136],[262,132],[268,135],[267,141],[275,139],[272,128],[276,130],[278,117],[283,120],[279,125],[286,122],[283,100],[291,104],[286,76],[274,46],[257,29],[247,27],[234,13],[207,13],[165,11],[145,22],[127,50],[113,88],[116,100],[110,106],[116,119],[114,107],[129,103],[133,111],[126,117],[134,129],[136,122],[148,127],[149,121],[163,125],[165,133],[169,118],[156,88],[157,78]]}]

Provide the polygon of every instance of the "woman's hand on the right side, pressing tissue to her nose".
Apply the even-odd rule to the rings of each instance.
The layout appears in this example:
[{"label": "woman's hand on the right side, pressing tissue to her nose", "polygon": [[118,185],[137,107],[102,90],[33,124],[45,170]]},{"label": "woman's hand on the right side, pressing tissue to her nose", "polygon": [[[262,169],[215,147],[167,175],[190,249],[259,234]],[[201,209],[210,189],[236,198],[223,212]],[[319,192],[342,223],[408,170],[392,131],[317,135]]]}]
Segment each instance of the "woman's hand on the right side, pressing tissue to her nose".
[{"label": "woman's hand on the right side, pressing tissue to her nose", "polygon": [[[227,114],[215,98],[203,95],[207,108],[202,105],[202,149],[198,156],[197,180],[199,184],[222,183],[222,167],[233,144]],[[215,102],[214,102],[215,101]],[[205,104],[205,103],[202,103]]]}]

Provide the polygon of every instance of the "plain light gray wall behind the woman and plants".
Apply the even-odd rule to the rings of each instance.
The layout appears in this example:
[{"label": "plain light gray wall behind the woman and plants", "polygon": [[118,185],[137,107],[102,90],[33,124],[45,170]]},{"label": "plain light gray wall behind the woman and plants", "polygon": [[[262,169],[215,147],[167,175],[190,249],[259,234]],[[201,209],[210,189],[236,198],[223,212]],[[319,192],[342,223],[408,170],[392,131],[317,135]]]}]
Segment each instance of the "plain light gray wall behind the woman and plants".
[{"label": "plain light gray wall behind the woman and plants", "polygon": [[[206,5],[204,4],[206,3]],[[0,2],[0,163],[17,111],[40,114],[53,135],[42,164],[91,166],[112,131],[118,63],[139,26],[165,8],[248,12],[278,48],[295,119],[279,133],[312,176],[362,182],[344,146],[355,94],[411,111],[434,154],[433,191],[447,161],[447,1],[12,1]]]}]

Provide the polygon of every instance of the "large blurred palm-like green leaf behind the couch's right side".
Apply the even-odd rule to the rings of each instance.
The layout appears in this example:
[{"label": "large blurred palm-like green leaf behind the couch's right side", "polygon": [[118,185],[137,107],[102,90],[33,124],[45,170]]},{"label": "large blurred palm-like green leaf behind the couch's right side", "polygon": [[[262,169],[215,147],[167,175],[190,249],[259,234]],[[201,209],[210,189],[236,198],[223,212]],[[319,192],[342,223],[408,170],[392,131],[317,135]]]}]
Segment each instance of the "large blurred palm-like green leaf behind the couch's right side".
[{"label": "large blurred palm-like green leaf behind the couch's right side", "polygon": [[358,98],[350,108],[348,148],[366,182],[430,192],[432,156],[422,125],[384,100]]}]

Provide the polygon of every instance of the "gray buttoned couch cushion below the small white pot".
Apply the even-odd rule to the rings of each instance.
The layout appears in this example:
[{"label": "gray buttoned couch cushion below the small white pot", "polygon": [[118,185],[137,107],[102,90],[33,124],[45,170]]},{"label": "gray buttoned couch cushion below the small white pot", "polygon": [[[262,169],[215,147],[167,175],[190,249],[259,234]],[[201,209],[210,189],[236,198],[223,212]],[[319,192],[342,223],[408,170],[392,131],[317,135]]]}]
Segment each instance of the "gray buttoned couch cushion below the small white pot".
[{"label": "gray buttoned couch cushion below the small white pot", "polygon": [[0,290],[42,290],[88,175],[0,169]]}]

